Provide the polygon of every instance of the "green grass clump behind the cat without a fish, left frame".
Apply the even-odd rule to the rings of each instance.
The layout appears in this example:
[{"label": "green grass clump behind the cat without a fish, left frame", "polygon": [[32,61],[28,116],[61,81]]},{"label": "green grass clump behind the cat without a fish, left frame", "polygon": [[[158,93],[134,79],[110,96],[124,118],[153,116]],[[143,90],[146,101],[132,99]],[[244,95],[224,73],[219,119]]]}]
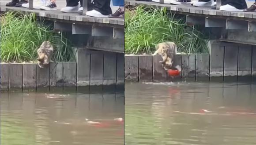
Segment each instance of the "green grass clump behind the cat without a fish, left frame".
[{"label": "green grass clump behind the cat without a fish, left frame", "polygon": [[51,25],[37,20],[34,14],[7,12],[1,15],[0,22],[1,62],[34,62],[43,41],[53,44],[53,61],[68,62],[75,58],[71,44],[64,35],[53,32]]}]

